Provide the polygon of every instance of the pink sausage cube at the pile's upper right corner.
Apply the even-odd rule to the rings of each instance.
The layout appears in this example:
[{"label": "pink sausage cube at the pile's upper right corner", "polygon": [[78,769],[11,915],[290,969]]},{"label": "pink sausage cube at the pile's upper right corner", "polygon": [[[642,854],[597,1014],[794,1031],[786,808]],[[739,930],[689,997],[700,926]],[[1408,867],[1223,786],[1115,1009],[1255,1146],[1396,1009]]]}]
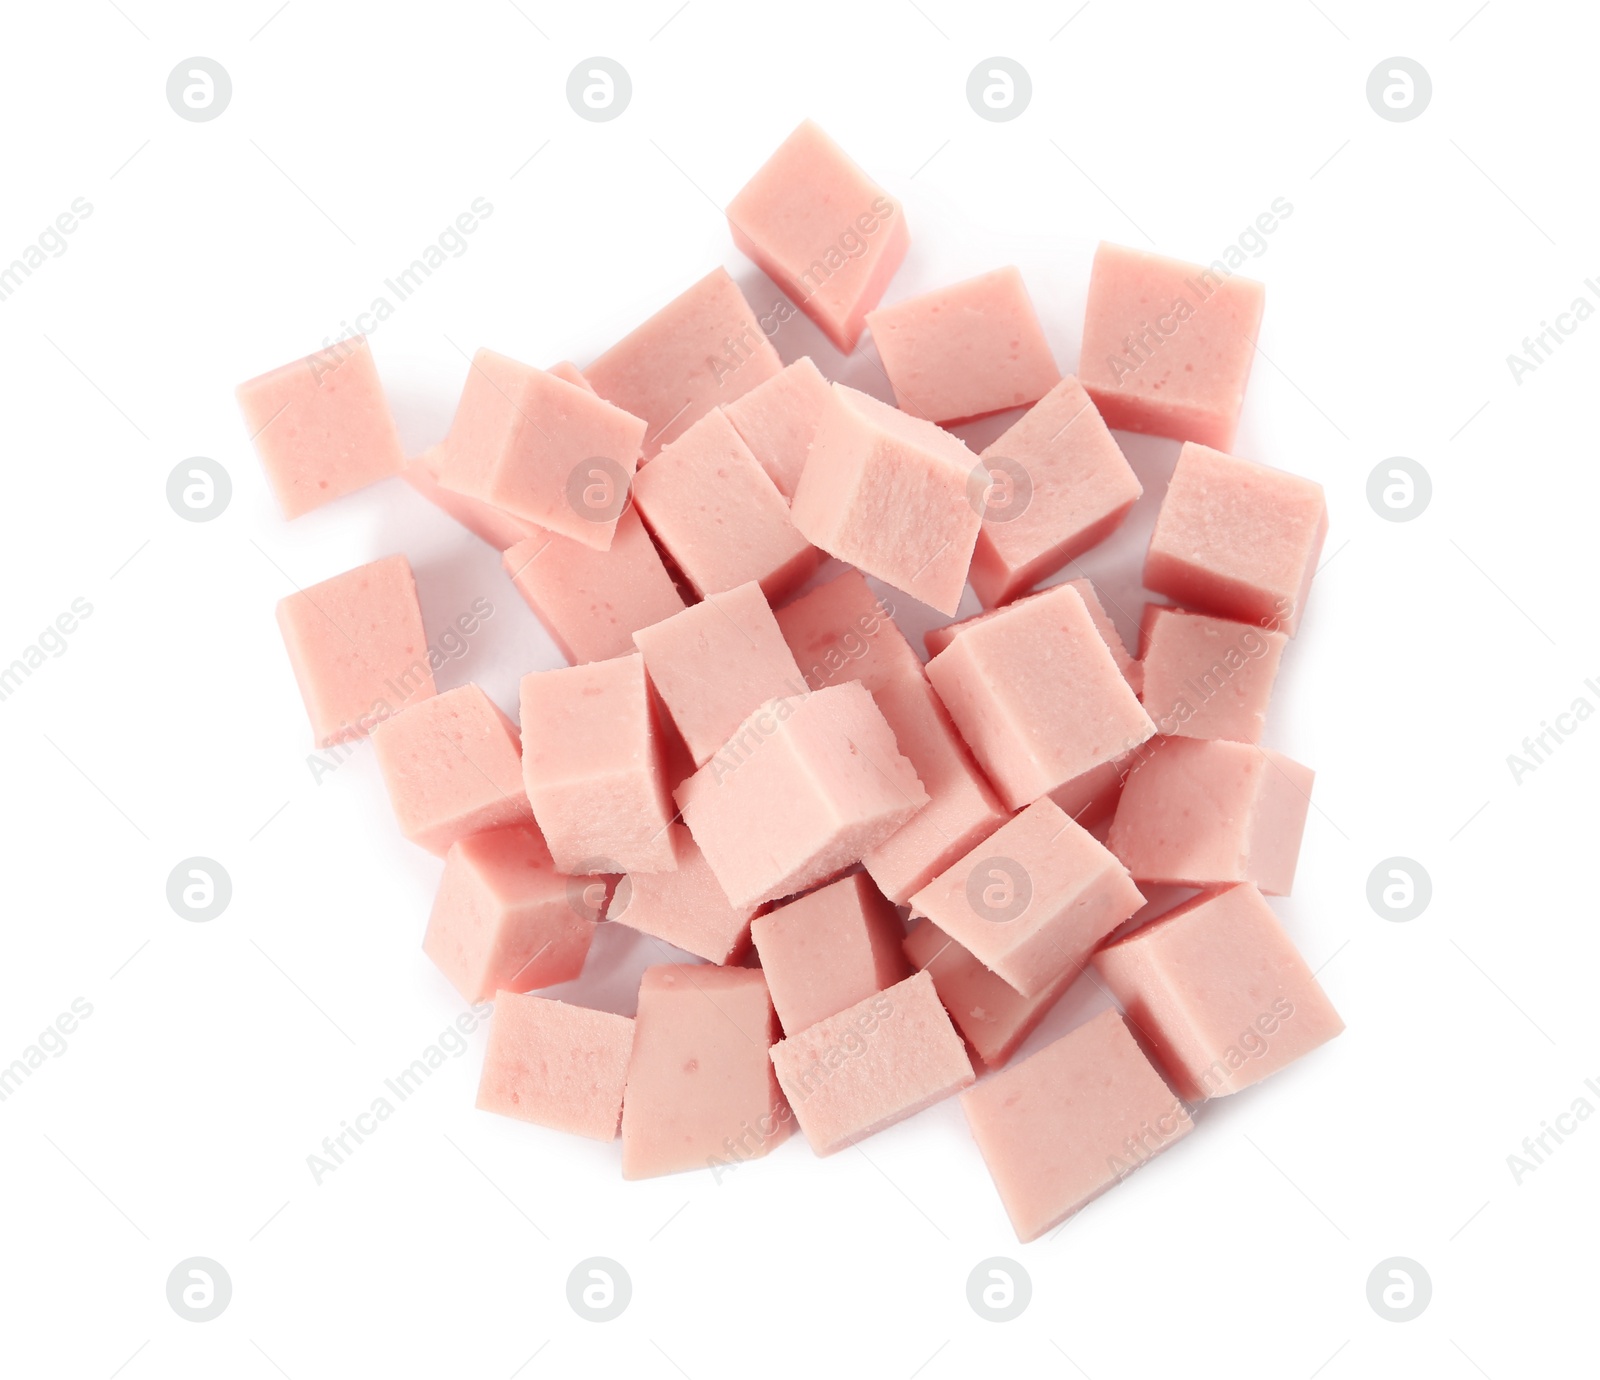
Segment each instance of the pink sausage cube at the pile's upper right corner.
[{"label": "pink sausage cube at the pile's upper right corner", "polygon": [[1216,267],[1102,243],[1078,378],[1123,431],[1229,447],[1267,290]]}]

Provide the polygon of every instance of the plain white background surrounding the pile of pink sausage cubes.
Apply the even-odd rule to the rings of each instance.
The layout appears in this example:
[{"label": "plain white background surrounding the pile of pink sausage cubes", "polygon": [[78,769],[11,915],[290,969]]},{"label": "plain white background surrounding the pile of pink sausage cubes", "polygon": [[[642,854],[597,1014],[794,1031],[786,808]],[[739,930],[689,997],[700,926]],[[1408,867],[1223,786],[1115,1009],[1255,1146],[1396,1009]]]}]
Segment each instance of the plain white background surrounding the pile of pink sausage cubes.
[{"label": "plain white background surrounding the pile of pink sausage cubes", "polygon": [[[1600,1125],[1520,1185],[1506,1157],[1600,1077],[1578,884],[1600,725],[1520,784],[1506,757],[1600,703],[1600,323],[1520,386],[1506,357],[1600,299],[1594,8],[274,3],[6,13],[0,263],[75,197],[93,215],[0,303],[0,663],[74,599],[93,615],[0,703],[0,1061],[74,999],[93,1015],[0,1105],[0,1370],[1592,1369]],[[565,101],[597,53],[632,74],[611,123]],[[165,99],[194,54],[232,75],[211,123]],[[1010,123],[965,99],[992,54],[1032,75]],[[1365,98],[1392,54],[1432,74],[1410,123]],[[418,948],[440,865],[398,837],[370,749],[314,780],[274,604],[405,551],[430,634],[494,605],[442,688],[477,679],[514,708],[554,653],[496,554],[400,482],[285,524],[232,387],[336,335],[475,197],[494,210],[469,250],[373,335],[413,453],[482,344],[586,363],[718,263],[765,311],[776,291],[718,208],[805,115],[906,203],[890,299],[1016,263],[1064,370],[1096,240],[1203,261],[1293,203],[1251,266],[1266,357],[1235,450],[1315,477],[1331,507],[1269,743],[1318,770],[1278,911],[1349,1031],[1027,1247],[954,1101],[826,1161],[792,1140],[720,1185],[624,1183],[614,1146],[474,1111],[482,1031],[317,1185],[307,1154],[461,1004]],[[838,371],[805,322],[776,343]],[[861,360],[843,373],[872,386]],[[1176,447],[1125,442],[1149,493],[1086,568],[1131,632]],[[194,455],[234,482],[210,524],[165,498]],[[1414,522],[1366,501],[1394,455],[1434,480]],[[232,876],[210,924],[165,900],[192,855]],[[1392,855],[1434,881],[1410,924],[1366,903]],[[581,996],[630,1012],[656,957],[603,933]],[[1099,1001],[1080,985],[1030,1047]],[[213,1322],[166,1303],[190,1255],[232,1278]],[[592,1255],[632,1278],[610,1324],[566,1302]],[[992,1255],[1032,1278],[1014,1322],[966,1305]],[[1434,1282],[1405,1324],[1366,1302],[1392,1255]]]}]

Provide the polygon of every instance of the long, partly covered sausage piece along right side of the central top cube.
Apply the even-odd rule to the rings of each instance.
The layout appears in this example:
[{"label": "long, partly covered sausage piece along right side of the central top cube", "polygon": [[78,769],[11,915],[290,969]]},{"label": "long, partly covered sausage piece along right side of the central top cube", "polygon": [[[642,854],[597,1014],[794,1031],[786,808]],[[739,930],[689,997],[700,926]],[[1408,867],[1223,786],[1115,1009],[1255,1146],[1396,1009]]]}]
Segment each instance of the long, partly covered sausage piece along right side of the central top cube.
[{"label": "long, partly covered sausage piece along right side of the central top cube", "polygon": [[821,584],[786,608],[778,626],[813,690],[859,680],[917,772],[928,804],[862,858],[896,905],[910,900],[1006,816],[933,693],[922,663],[859,572]]}]

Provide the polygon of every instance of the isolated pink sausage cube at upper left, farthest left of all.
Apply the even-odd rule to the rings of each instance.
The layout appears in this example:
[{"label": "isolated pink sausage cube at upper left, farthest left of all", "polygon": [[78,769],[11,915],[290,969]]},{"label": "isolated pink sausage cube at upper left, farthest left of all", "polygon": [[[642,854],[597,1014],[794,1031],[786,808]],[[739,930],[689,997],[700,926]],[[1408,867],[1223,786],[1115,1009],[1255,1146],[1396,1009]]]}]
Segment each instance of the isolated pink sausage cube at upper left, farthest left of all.
[{"label": "isolated pink sausage cube at upper left, farthest left of all", "polygon": [[285,517],[400,474],[405,464],[363,336],[242,383],[237,397]]}]

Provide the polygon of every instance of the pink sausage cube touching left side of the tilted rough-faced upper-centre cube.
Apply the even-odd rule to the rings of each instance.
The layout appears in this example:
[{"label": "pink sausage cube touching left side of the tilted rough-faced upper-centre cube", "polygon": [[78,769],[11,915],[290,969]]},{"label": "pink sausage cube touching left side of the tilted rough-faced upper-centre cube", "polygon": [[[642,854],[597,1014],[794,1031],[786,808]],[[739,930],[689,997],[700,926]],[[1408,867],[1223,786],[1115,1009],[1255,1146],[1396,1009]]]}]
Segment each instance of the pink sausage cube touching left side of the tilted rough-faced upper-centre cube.
[{"label": "pink sausage cube touching left side of the tilted rough-faced upper-centre cube", "polygon": [[662,447],[634,480],[634,499],[701,599],[754,580],[778,602],[822,559],[720,410]]}]

